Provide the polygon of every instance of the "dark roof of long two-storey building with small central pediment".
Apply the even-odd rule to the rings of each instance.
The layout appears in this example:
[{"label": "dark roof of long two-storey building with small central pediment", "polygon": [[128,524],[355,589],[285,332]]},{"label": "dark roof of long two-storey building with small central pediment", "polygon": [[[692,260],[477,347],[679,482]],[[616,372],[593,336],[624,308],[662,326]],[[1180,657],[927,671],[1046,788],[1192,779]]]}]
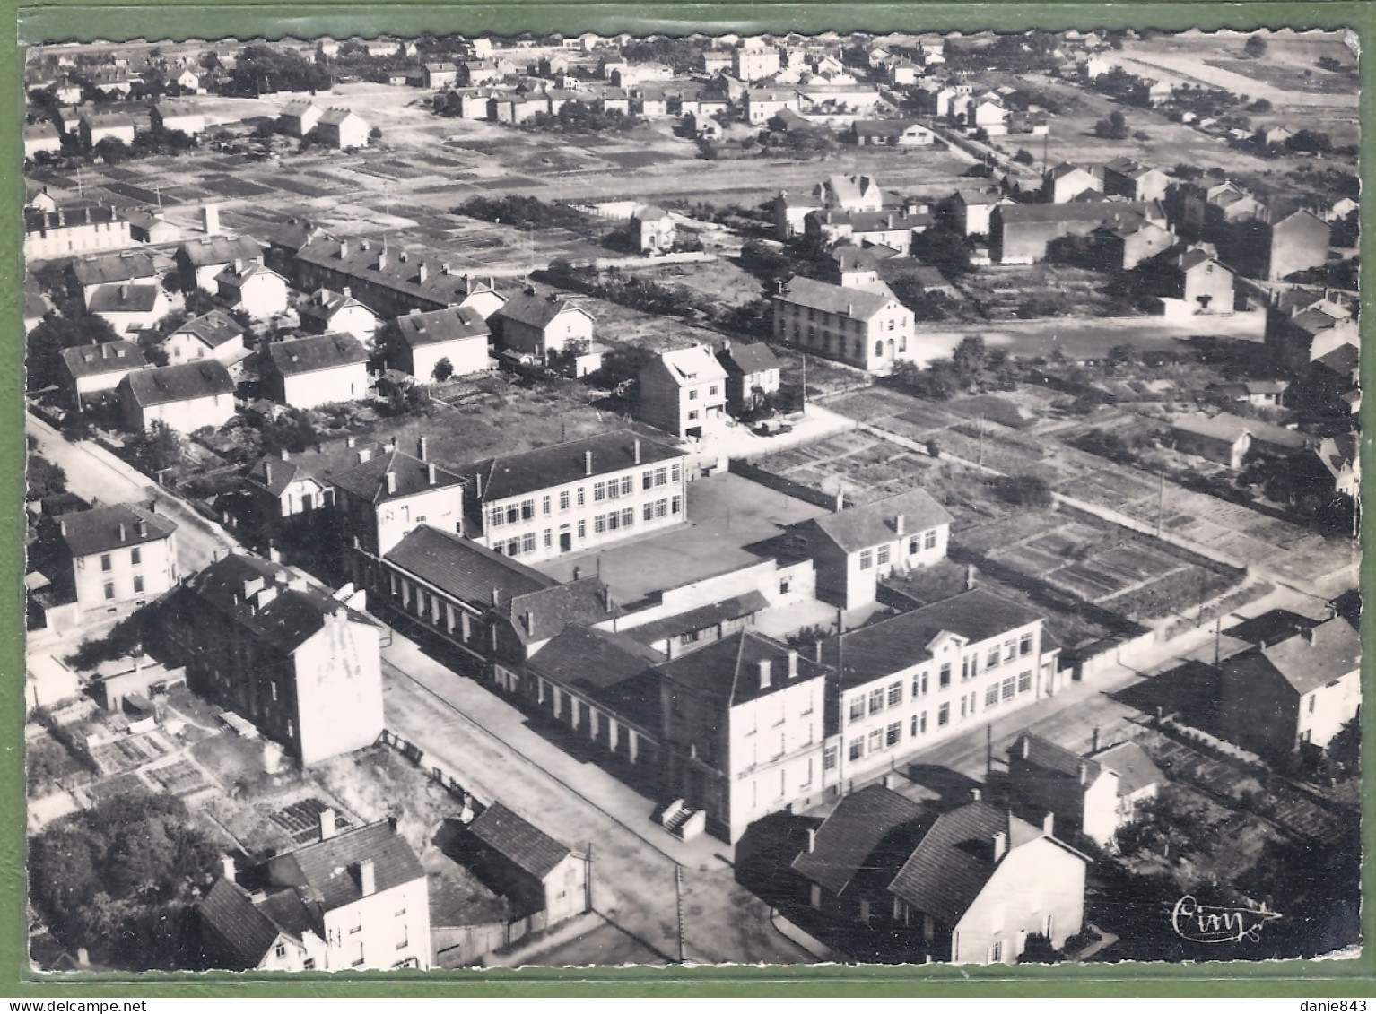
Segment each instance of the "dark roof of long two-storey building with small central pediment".
[{"label": "dark roof of long two-storey building with small central pediment", "polygon": [[974,589],[823,641],[821,658],[838,669],[845,691],[926,662],[943,630],[974,644],[1039,619],[1039,612]]}]

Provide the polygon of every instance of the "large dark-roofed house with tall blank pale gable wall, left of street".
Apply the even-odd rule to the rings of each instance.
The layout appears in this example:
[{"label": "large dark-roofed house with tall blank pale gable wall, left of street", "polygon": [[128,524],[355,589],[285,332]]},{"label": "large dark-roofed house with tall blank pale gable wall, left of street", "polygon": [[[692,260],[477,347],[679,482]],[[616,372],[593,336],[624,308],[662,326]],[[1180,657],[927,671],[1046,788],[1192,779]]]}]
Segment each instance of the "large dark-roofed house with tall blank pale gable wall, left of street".
[{"label": "large dark-roofed house with tall blank pale gable wall, left of street", "polygon": [[380,627],[297,571],[228,553],[187,578],[160,621],[187,687],[303,765],[377,742]]}]

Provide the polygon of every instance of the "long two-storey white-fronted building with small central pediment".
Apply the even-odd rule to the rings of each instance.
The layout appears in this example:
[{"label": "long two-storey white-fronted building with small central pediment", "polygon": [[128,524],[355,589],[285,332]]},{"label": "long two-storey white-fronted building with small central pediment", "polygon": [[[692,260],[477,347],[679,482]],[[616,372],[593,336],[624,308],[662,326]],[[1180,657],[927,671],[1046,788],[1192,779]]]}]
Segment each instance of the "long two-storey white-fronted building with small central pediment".
[{"label": "long two-storey white-fronted building with small central pediment", "polygon": [[912,754],[1058,689],[1040,614],[974,589],[823,641],[823,787],[843,794]]}]

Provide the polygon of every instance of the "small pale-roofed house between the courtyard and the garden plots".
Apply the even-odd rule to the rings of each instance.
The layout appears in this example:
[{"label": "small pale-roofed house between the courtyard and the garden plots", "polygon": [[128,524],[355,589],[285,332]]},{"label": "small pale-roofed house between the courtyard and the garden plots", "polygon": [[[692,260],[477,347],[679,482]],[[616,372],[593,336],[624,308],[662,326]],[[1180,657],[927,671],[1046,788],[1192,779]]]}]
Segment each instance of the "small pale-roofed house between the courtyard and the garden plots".
[{"label": "small pale-roofed house between the courtyard and the garden plots", "polygon": [[835,510],[795,531],[817,568],[817,594],[854,610],[875,601],[879,582],[945,559],[951,515],[926,490]]}]

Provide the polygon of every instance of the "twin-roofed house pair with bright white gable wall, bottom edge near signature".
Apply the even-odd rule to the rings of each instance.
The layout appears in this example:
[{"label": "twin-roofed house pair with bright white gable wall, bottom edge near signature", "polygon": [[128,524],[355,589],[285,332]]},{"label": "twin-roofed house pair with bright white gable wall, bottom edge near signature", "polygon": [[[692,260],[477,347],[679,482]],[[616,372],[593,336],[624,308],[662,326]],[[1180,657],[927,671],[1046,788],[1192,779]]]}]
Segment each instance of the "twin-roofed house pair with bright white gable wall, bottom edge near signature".
[{"label": "twin-roofed house pair with bright white gable wall, bottom edge near signature", "polygon": [[1088,859],[1054,821],[974,799],[952,810],[874,786],[841,801],[793,863],[813,908],[912,963],[1014,964],[1084,925]]}]

